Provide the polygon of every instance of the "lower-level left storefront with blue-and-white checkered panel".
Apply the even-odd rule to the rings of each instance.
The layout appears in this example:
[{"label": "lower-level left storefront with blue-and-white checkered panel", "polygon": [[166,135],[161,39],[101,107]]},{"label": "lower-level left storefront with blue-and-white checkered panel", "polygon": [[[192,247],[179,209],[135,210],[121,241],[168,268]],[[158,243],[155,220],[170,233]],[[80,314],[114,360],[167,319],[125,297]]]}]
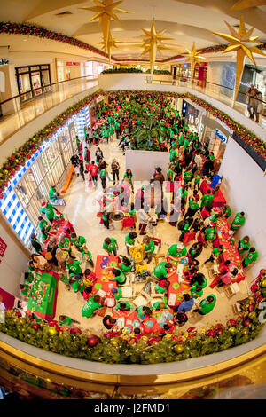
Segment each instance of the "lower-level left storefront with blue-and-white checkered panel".
[{"label": "lower-level left storefront with blue-and-white checkered panel", "polygon": [[[88,107],[87,107],[88,108]],[[49,199],[51,185],[62,189],[70,158],[76,150],[76,134],[82,112],[74,115],[45,143],[8,185],[0,209],[20,239],[28,246],[32,232],[38,235],[38,216],[43,201]],[[83,129],[84,126],[82,126]]]}]

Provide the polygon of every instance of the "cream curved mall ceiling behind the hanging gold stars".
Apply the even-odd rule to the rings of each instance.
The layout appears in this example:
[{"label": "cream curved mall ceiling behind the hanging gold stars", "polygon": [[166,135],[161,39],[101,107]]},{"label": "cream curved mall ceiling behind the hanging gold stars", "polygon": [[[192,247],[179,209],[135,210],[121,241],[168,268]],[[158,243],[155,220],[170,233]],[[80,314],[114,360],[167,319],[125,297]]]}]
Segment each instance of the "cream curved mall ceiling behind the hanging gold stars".
[{"label": "cream curved mall ceiling behind the hanging gold stars", "polygon": [[[141,38],[137,36],[144,35],[142,28],[150,30],[153,18],[157,30],[165,29],[164,35],[173,38],[164,42],[169,49],[162,52],[163,57],[158,55],[159,60],[186,52],[186,49],[191,49],[193,42],[196,43],[196,49],[223,44],[223,39],[211,31],[229,33],[224,20],[231,26],[238,25],[241,14],[246,28],[254,27],[253,35],[258,35],[259,40],[265,42],[266,5],[228,14],[235,3],[236,0],[123,0],[118,7],[129,13],[115,12],[121,21],[111,21],[113,37],[122,42],[113,48],[112,55],[116,59],[148,59],[147,54],[140,56],[142,49],[137,43],[141,42]],[[92,0],[0,0],[0,15],[2,21],[39,25],[101,49],[101,26],[98,21],[90,22],[95,12],[80,9],[94,5]],[[0,45],[9,45],[10,51],[60,51],[88,59],[95,56],[90,51],[57,41],[24,37],[27,37],[27,43],[21,42],[21,35],[0,35]],[[221,56],[221,53],[218,55]],[[217,54],[212,54],[212,57],[207,58],[216,57]],[[227,56],[227,59],[230,57]]]}]

